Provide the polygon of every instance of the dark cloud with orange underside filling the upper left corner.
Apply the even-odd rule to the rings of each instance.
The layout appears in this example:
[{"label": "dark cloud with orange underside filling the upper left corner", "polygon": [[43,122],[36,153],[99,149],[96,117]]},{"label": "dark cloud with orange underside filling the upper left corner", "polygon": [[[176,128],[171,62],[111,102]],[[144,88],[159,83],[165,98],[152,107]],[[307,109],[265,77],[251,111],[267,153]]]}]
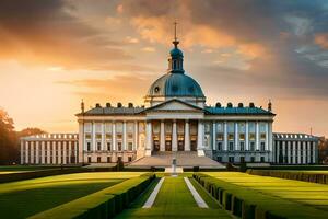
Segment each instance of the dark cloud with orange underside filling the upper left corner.
[{"label": "dark cloud with orange underside filling the upper left corner", "polygon": [[132,58],[120,42],[74,16],[74,10],[60,0],[0,1],[0,58],[68,69]]}]

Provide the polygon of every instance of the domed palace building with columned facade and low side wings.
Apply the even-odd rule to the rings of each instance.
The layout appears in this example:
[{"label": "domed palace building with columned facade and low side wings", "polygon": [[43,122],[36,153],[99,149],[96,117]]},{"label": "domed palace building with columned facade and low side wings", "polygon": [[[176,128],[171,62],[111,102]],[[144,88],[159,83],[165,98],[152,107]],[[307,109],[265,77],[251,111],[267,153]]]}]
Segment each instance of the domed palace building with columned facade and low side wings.
[{"label": "domed palace building with columned facade and low side wings", "polygon": [[[267,110],[254,103],[207,105],[201,87],[185,72],[176,37],[173,44],[168,69],[150,85],[143,106],[107,103],[85,111],[82,102],[75,148],[69,148],[65,139],[62,143],[55,138],[30,143],[43,138],[23,138],[22,163],[49,163],[51,155],[52,163],[132,162],[172,153],[232,163],[317,162],[317,138],[272,134],[276,114],[270,102]],[[38,158],[42,154],[48,159]],[[60,159],[56,159],[58,154]]]}]

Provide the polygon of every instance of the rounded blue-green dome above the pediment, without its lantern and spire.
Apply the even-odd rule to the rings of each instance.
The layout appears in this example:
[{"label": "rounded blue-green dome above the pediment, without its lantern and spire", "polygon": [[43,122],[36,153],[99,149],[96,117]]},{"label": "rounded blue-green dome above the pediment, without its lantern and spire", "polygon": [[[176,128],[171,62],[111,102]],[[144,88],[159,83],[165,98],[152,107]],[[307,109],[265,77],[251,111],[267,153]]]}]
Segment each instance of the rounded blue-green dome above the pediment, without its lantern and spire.
[{"label": "rounded blue-green dome above the pediment, without its lantern and spire", "polygon": [[149,89],[148,96],[204,97],[200,85],[184,73],[166,73]]}]

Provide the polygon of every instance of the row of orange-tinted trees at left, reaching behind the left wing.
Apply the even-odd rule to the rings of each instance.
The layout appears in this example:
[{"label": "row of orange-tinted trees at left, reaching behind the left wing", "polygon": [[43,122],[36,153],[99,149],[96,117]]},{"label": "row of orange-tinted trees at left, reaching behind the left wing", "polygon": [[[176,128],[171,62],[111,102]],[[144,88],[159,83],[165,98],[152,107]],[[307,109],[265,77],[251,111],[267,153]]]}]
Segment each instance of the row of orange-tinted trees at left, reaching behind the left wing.
[{"label": "row of orange-tinted trees at left, reaching behind the left wing", "polygon": [[39,128],[25,128],[16,131],[13,119],[0,108],[0,165],[20,163],[20,138],[46,131]]}]

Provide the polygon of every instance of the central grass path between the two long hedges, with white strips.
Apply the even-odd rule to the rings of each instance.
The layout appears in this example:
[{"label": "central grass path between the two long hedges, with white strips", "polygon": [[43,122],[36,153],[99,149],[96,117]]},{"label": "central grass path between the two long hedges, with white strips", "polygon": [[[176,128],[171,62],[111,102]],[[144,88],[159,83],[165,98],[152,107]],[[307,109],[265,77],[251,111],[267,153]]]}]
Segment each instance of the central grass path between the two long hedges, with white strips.
[{"label": "central grass path between the two long hedges, with white strips", "polygon": [[[152,185],[150,189],[154,186]],[[142,206],[140,201],[144,199],[147,199],[144,196],[140,197],[137,204],[117,218],[231,218],[219,206],[212,208],[213,205],[209,205],[209,208],[199,208],[181,176],[165,177],[152,208],[140,207]]]}]

